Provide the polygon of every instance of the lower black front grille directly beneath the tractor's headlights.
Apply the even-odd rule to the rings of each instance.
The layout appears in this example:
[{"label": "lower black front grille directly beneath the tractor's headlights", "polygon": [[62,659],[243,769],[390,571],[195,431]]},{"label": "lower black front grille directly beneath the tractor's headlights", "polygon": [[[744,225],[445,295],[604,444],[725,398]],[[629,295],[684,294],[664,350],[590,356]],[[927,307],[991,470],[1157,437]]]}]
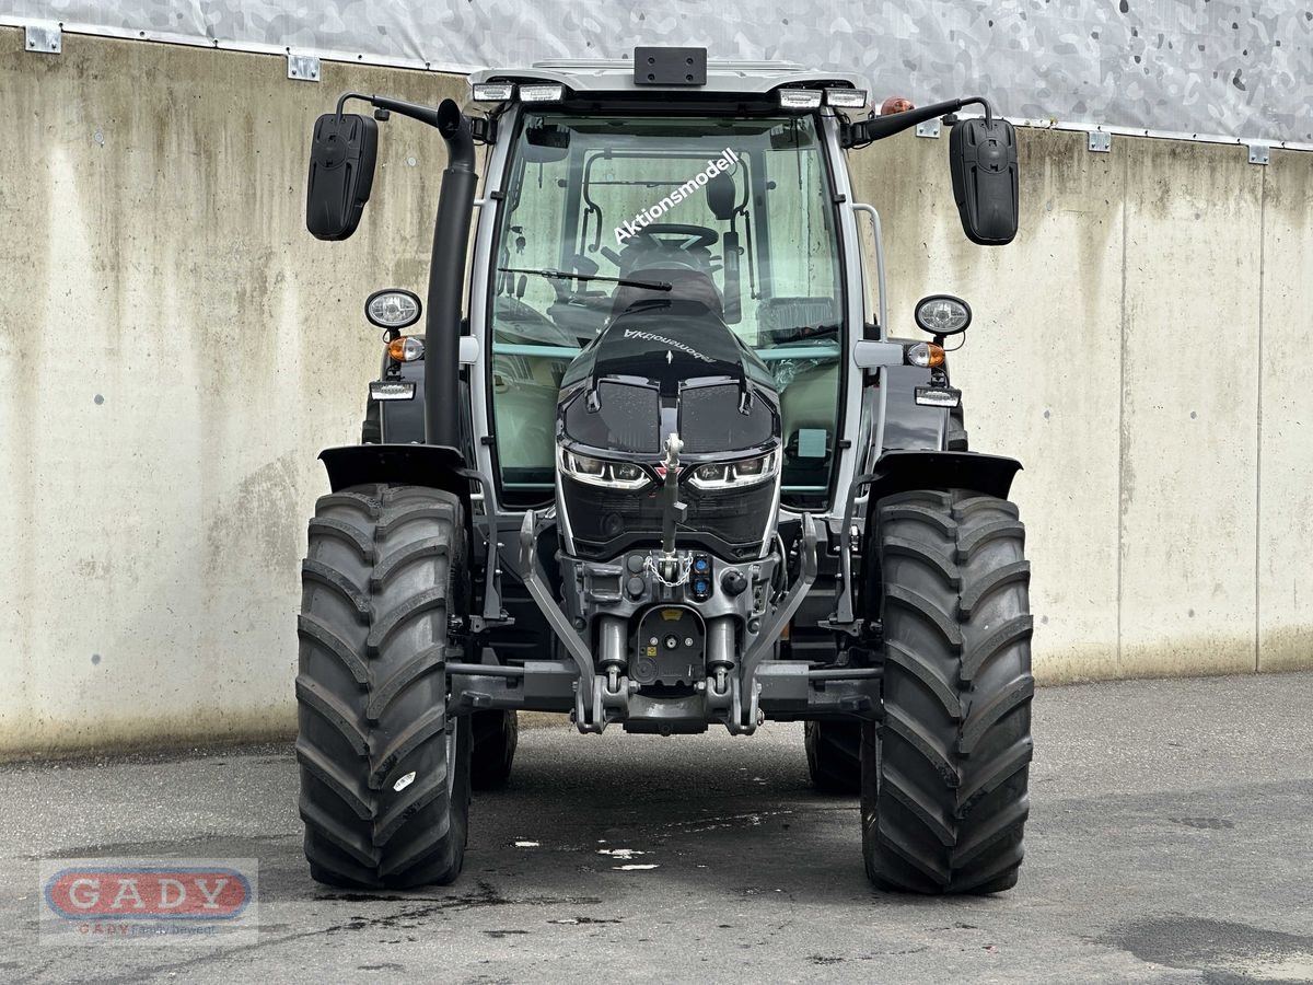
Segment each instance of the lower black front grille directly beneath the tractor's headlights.
[{"label": "lower black front grille directly beneath the tractor's headlights", "polygon": [[[561,491],[579,557],[604,561],[633,546],[660,545],[659,486],[622,492],[562,475]],[[729,561],[760,556],[767,525],[775,519],[773,482],[722,492],[699,492],[684,483],[680,498],[688,506],[688,515],[679,525],[679,546],[702,548]]]}]

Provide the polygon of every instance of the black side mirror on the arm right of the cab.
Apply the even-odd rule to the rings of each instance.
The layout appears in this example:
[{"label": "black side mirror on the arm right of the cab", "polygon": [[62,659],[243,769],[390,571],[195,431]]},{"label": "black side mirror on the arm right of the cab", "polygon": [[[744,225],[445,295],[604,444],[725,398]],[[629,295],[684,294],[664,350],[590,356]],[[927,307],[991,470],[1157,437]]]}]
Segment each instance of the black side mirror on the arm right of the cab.
[{"label": "black side mirror on the arm right of the cab", "polygon": [[1016,130],[1006,120],[961,120],[948,139],[953,198],[962,232],[979,246],[1016,236]]}]

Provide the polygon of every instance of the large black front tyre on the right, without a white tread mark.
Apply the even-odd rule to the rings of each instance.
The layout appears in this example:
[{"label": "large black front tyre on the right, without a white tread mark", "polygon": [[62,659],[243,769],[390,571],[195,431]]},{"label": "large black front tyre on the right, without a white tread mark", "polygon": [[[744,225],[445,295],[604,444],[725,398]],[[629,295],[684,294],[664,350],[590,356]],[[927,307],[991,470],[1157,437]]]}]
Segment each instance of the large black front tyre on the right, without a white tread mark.
[{"label": "large black front tyre on the right, without a white tread mark", "polygon": [[1032,754],[1029,566],[1016,507],[953,490],[881,500],[882,725],[863,726],[867,875],[909,893],[1016,884]]}]

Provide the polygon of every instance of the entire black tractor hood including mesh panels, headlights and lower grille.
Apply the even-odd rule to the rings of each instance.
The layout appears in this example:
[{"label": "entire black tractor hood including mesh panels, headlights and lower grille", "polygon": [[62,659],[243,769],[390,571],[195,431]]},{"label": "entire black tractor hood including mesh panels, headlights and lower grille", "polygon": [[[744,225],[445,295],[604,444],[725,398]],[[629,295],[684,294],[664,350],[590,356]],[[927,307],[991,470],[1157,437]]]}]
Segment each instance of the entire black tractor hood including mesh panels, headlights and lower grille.
[{"label": "entire black tractor hood including mesh panels, headlights and lower grille", "polygon": [[762,360],[705,302],[624,307],[566,370],[557,440],[558,507],[579,557],[660,544],[676,508],[680,544],[735,561],[764,553],[780,491],[780,399]]}]

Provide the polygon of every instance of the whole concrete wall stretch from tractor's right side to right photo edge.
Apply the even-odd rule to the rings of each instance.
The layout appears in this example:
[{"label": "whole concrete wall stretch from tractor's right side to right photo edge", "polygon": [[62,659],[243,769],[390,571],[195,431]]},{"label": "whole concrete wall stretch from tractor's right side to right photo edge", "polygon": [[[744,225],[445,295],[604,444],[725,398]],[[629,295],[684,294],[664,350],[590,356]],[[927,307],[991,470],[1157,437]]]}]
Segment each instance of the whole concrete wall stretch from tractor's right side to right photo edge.
[{"label": "whole concrete wall stretch from tractor's right side to right photo edge", "polygon": [[972,447],[1027,469],[1037,676],[1313,666],[1313,559],[1291,525],[1313,507],[1313,397],[1293,382],[1313,374],[1313,155],[1262,168],[1121,137],[1091,154],[1039,130],[1020,150],[1003,250],[961,236],[943,139],[855,160],[884,218],[893,330],[914,332],[931,292],[973,303],[953,381]]}]

